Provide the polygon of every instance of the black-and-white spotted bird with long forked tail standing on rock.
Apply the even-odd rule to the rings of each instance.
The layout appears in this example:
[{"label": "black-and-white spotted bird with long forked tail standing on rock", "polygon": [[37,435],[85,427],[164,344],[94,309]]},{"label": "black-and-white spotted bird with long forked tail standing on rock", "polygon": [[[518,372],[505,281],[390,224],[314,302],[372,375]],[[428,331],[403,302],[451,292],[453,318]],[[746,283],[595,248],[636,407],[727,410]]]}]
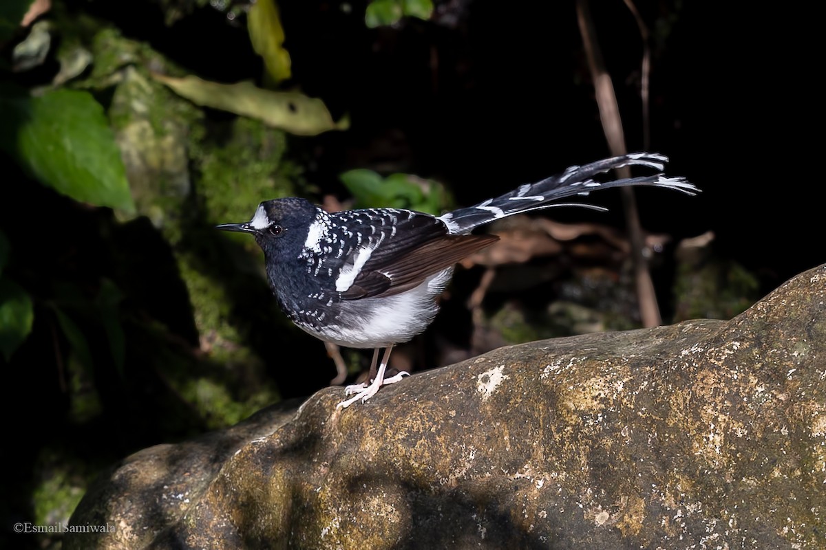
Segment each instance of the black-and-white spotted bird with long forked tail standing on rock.
[{"label": "black-and-white spotted bird with long forked tail standing on rock", "polygon": [[[653,186],[696,195],[683,177],[662,172],[668,157],[627,153],[582,166],[505,195],[435,216],[409,209],[368,208],[328,213],[311,201],[265,200],[252,219],[216,226],[250,233],[263,251],[270,288],[290,320],[321,341],[373,349],[368,381],[344,388],[337,408],[366,402],[382,386],[407,376],[387,374],[393,346],[425,331],[439,311],[439,295],[458,261],[496,242],[473,229],[533,210],[576,206],[557,202],[611,187]],[[597,181],[595,176],[626,166],[651,168],[651,176]],[[380,350],[384,350],[381,362]],[[353,396],[353,397],[349,397]]]}]

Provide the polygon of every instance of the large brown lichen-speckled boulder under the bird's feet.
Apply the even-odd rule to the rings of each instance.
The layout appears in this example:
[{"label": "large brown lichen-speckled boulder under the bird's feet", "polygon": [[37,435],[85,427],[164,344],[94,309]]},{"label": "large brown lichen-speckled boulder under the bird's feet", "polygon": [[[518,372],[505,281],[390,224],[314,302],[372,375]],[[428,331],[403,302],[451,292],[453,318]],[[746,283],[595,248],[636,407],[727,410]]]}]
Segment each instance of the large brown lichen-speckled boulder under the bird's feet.
[{"label": "large brown lichen-speckled boulder under the bird's feet", "polygon": [[824,548],[826,265],[729,322],[325,388],[103,476],[65,548]]}]

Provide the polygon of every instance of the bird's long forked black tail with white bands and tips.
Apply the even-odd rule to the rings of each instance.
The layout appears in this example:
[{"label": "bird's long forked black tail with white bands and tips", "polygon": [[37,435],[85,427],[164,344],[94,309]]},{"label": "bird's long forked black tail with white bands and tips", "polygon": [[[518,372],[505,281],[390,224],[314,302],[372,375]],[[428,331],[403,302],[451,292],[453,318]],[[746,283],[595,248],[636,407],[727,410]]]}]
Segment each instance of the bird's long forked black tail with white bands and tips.
[{"label": "bird's long forked black tail with white bands and tips", "polygon": [[[515,190],[489,199],[468,208],[454,210],[444,214],[441,219],[448,224],[451,233],[469,233],[473,228],[494,219],[505,218],[511,214],[553,208],[556,206],[579,206],[596,210],[605,210],[601,206],[586,203],[558,203],[556,200],[570,196],[586,196],[594,190],[610,187],[652,186],[664,187],[696,195],[700,189],[682,177],[666,177],[662,174],[668,157],[659,153],[628,153],[619,157],[605,158],[583,166],[568,167],[564,172],[550,176],[536,183],[526,183]],[[593,176],[626,166],[644,166],[657,170],[657,174],[642,177],[627,177],[613,181],[595,181]]]}]

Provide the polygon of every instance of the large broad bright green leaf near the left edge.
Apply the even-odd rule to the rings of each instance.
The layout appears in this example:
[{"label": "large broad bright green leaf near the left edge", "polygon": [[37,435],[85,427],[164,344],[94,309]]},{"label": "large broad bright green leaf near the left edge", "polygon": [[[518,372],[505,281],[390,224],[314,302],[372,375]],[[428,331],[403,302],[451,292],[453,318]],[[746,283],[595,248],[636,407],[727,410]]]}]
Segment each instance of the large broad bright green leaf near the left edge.
[{"label": "large broad bright green leaf near the left edge", "polygon": [[74,200],[135,210],[121,151],[88,92],[30,97],[0,89],[0,148],[45,186]]}]

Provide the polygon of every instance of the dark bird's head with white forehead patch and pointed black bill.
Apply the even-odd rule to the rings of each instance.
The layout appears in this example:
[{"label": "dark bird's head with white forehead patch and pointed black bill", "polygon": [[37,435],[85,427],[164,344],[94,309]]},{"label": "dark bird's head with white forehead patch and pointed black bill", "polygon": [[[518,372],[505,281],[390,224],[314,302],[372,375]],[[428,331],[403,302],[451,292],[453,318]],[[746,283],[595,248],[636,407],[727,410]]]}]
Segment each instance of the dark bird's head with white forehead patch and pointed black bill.
[{"label": "dark bird's head with white forehead patch and pointed black bill", "polygon": [[288,198],[265,200],[249,222],[224,223],[223,231],[252,233],[265,256],[301,250],[318,209],[309,200]]}]

